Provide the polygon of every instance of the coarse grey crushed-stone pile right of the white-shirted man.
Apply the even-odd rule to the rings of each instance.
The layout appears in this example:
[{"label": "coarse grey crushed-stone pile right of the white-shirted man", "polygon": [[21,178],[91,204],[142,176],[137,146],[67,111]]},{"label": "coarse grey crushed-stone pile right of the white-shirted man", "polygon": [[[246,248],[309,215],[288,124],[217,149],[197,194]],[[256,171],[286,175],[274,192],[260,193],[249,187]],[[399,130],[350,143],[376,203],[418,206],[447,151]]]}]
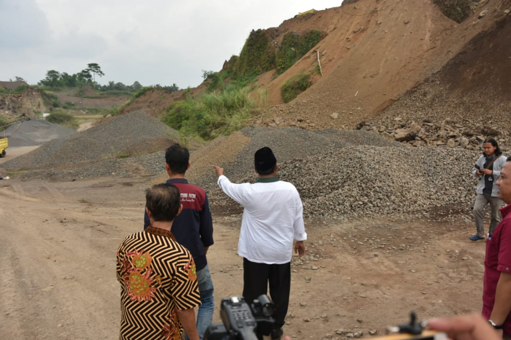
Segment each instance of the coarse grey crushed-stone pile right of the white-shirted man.
[{"label": "coarse grey crushed-stone pile right of the white-shirted man", "polygon": [[[395,217],[451,203],[471,205],[470,171],[478,156],[459,148],[351,146],[281,163],[278,174],[296,186],[306,217]],[[238,182],[255,179],[247,171]],[[233,206],[219,189],[210,196],[213,207]]]}]

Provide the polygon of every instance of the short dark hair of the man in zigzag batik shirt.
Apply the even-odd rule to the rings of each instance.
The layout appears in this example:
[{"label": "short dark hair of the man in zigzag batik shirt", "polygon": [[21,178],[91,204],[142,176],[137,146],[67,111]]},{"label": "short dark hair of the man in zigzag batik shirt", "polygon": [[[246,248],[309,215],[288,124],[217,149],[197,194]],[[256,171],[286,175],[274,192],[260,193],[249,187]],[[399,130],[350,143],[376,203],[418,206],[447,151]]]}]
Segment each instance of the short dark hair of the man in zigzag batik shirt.
[{"label": "short dark hair of the man in zigzag batik shirt", "polygon": [[179,189],[172,184],[157,184],[146,190],[146,207],[155,221],[173,221],[181,206]]}]

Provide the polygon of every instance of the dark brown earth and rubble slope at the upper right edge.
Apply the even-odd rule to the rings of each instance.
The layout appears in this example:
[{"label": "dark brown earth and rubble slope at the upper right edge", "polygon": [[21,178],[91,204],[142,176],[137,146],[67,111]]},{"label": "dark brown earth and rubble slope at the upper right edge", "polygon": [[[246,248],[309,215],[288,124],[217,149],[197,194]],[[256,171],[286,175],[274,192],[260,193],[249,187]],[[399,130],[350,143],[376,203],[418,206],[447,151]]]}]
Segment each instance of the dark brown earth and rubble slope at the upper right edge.
[{"label": "dark brown earth and rubble slope at the upper right edge", "polygon": [[439,72],[405,93],[375,119],[388,126],[438,122],[464,127],[464,135],[511,136],[511,18],[476,35]]}]

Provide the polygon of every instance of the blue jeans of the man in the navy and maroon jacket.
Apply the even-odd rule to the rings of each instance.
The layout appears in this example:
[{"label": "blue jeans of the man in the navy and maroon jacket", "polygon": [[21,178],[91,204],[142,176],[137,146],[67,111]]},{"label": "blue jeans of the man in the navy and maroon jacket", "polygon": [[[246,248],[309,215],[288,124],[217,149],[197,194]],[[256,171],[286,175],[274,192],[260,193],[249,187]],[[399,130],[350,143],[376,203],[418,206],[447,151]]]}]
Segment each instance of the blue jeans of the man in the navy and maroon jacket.
[{"label": "blue jeans of the man in the navy and maroon jacket", "polygon": [[[197,270],[197,283],[199,284],[200,302],[202,303],[197,313],[197,331],[202,340],[204,332],[213,321],[213,310],[215,309],[213,281],[211,280],[210,268],[207,265]],[[186,339],[189,340],[188,335]]]}]

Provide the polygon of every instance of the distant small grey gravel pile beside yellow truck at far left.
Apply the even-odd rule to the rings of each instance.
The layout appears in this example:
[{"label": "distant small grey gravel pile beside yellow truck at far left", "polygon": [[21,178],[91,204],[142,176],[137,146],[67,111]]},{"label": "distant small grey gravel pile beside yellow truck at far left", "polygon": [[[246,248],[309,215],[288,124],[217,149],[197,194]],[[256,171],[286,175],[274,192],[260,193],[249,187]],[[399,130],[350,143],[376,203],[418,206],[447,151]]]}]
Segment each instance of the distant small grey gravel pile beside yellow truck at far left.
[{"label": "distant small grey gravel pile beside yellow truck at far left", "polygon": [[72,128],[40,119],[11,125],[5,130],[5,133],[9,139],[9,146],[17,147],[41,145],[78,132]]}]

